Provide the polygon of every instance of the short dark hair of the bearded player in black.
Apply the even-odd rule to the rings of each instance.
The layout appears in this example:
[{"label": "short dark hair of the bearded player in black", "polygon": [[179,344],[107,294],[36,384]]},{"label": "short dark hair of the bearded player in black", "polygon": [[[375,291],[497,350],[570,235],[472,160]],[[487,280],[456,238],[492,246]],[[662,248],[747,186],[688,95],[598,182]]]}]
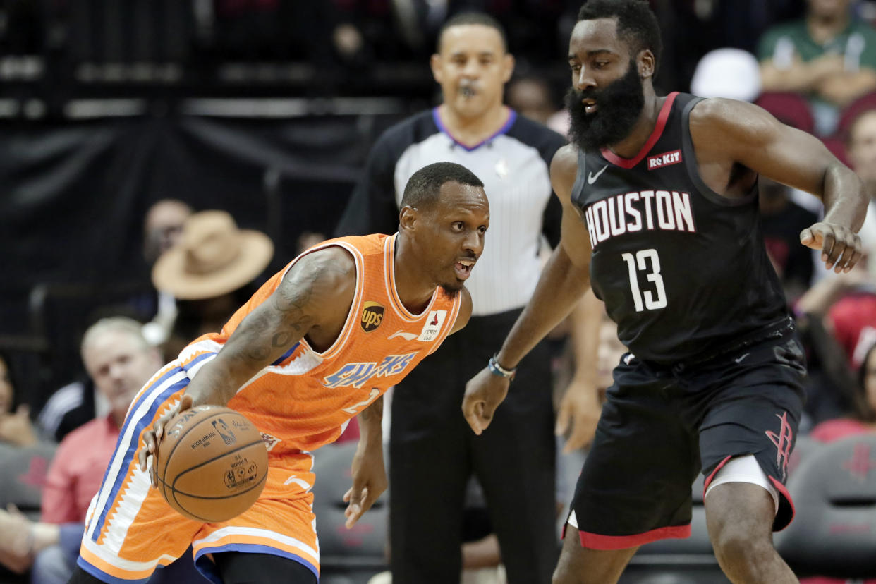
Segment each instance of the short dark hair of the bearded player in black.
[{"label": "short dark hair of the bearded player in black", "polygon": [[660,25],[647,0],[590,0],[578,11],[578,22],[596,18],[617,18],[618,37],[633,55],[648,49],[654,56],[654,74],[660,67],[663,41]]}]

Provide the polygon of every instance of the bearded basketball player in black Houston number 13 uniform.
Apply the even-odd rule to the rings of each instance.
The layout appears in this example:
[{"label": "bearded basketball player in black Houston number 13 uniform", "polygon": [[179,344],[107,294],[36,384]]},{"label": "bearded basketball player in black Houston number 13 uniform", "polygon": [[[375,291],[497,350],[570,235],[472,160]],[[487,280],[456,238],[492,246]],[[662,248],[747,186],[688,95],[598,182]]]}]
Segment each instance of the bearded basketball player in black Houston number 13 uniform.
[{"label": "bearded basketball player in black Houston number 13 uniform", "polygon": [[760,234],[760,173],[814,193],[803,245],[860,257],[863,187],[815,137],[724,99],[655,95],[660,32],[643,0],[591,0],[569,41],[573,144],[551,180],[562,245],[501,350],[466,387],[489,426],[513,369],[592,285],[630,353],[614,370],[576,488],[555,582],[615,582],[639,545],[690,532],[706,477],[710,538],[733,582],[795,582],[772,545],[805,362]]}]

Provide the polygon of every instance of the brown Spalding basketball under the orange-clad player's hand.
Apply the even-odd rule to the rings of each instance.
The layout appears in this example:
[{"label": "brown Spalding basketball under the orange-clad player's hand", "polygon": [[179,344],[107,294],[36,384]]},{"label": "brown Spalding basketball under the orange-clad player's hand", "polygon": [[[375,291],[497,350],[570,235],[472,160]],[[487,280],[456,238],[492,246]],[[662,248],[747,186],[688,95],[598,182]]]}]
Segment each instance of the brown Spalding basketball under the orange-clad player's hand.
[{"label": "brown Spalding basketball under the orange-clad player's hand", "polygon": [[265,488],[268,452],[243,414],[199,405],[167,423],[154,464],[159,491],[173,509],[216,523],[256,502]]}]

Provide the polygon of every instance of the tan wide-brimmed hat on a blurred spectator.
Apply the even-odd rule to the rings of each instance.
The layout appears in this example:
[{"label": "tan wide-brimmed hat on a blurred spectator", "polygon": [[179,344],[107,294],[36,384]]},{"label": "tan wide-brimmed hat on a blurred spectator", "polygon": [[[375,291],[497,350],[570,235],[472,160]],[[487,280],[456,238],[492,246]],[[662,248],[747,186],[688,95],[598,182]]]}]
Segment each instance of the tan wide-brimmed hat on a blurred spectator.
[{"label": "tan wide-brimmed hat on a blurred spectator", "polygon": [[180,242],[159,257],[152,284],[178,299],[214,298],[250,283],[272,257],[273,243],[264,233],[237,229],[225,211],[201,211],[186,220]]}]

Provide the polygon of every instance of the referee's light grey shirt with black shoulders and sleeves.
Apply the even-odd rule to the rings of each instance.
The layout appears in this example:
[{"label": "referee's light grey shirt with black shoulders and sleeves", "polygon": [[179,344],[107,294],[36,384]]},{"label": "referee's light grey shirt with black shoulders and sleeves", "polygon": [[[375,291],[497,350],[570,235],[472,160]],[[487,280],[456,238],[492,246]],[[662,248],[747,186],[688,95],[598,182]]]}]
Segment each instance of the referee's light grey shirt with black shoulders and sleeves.
[{"label": "referee's light grey shirt with black shoulders and sleeves", "polygon": [[508,122],[481,144],[459,144],[442,126],[438,109],[392,126],[371,149],[365,174],[336,229],[337,236],[392,234],[407,180],[423,166],[456,162],[484,182],[490,229],[484,255],[465,286],[474,316],[526,305],[538,281],[541,236],[560,241],[562,208],[548,170],[566,141],[560,134],[511,111]]}]

